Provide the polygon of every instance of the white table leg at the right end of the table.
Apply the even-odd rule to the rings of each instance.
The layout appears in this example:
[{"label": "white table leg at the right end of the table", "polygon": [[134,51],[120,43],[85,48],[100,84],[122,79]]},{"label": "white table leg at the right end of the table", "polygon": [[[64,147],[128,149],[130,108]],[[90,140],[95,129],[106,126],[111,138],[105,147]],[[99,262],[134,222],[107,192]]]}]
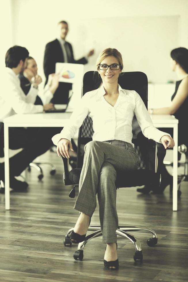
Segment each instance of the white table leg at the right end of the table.
[{"label": "white table leg at the right end of the table", "polygon": [[173,199],[172,209],[177,211],[178,209],[178,125],[174,125],[174,142],[173,148]]}]

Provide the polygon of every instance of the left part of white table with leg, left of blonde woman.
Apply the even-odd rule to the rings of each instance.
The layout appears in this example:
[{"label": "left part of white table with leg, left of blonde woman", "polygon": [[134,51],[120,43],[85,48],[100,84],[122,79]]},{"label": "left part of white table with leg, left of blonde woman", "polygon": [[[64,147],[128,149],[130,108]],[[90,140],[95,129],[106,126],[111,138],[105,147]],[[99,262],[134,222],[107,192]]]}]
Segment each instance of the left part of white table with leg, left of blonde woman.
[{"label": "left part of white table with leg, left of blonde woman", "polygon": [[64,127],[71,113],[42,113],[13,115],[4,122],[5,153],[5,209],[10,209],[9,183],[9,127]]}]

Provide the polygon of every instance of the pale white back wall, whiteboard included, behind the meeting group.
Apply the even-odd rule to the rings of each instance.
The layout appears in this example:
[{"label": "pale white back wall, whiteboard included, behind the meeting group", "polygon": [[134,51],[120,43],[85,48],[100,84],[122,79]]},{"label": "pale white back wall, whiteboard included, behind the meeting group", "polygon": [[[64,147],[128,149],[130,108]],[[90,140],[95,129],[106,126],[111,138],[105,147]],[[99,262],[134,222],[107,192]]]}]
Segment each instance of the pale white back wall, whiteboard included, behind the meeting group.
[{"label": "pale white back wall, whiteboard included, behind the meeting group", "polygon": [[[170,49],[179,46],[188,47],[187,0],[72,0],[67,2],[12,0],[12,8],[13,43],[29,49],[42,75],[45,44],[56,37],[56,23],[62,19],[69,22],[67,41],[73,44],[76,58],[84,55],[92,47],[96,49],[96,54],[85,66],[85,70],[94,69],[96,57],[101,51],[99,46],[109,47],[101,44],[108,26],[111,28],[112,37],[117,38],[117,34],[125,32],[129,37],[128,52],[123,54],[125,70],[145,71],[149,80],[153,82],[162,83],[176,79],[170,71]],[[123,25],[123,22],[126,24]],[[135,34],[134,24],[131,25],[131,23],[137,24],[137,34]],[[93,28],[99,35],[100,44],[95,38],[92,40]],[[147,37],[146,34],[148,34]],[[132,40],[133,47],[131,35],[134,39]],[[135,46],[135,38],[139,39],[138,46]],[[118,48],[120,48],[119,45]],[[124,53],[124,48],[120,49]],[[156,52],[157,49],[159,52]]]}]

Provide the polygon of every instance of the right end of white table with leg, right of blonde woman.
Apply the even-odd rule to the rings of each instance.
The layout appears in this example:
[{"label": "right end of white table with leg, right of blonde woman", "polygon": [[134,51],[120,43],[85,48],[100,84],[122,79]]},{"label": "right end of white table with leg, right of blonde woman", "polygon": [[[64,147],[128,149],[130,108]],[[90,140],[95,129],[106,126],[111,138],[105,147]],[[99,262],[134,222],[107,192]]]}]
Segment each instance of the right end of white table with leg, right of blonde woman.
[{"label": "right end of white table with leg, right of blonde woman", "polygon": [[178,119],[173,115],[150,115],[155,127],[173,128],[173,139],[175,146],[173,148],[173,199],[172,209],[178,209]]}]

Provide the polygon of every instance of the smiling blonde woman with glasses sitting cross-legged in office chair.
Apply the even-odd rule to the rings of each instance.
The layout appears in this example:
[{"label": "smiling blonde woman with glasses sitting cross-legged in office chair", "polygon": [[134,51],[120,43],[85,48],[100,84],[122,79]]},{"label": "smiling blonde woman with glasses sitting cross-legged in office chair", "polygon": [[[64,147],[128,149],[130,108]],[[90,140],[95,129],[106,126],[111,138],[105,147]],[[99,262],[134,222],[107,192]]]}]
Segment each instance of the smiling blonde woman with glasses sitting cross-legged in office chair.
[{"label": "smiling blonde woman with glasses sitting cross-legged in office chair", "polygon": [[93,120],[93,141],[86,144],[83,167],[79,181],[79,195],[75,209],[80,216],[71,233],[71,241],[84,241],[86,232],[96,208],[96,194],[99,203],[99,217],[102,241],[106,243],[104,265],[109,270],[119,267],[117,258],[118,217],[116,211],[116,170],[135,170],[138,158],[132,143],[132,119],[134,114],[143,134],[165,148],[172,148],[174,140],[165,132],[156,129],[147,109],[135,91],[122,89],[118,77],[123,69],[121,54],[107,48],[99,55],[96,62],[102,85],[87,92],[80,105],[71,115],[69,124],[60,134],[52,138],[57,144],[57,153],[69,158],[70,142],[85,117],[89,114]]}]

